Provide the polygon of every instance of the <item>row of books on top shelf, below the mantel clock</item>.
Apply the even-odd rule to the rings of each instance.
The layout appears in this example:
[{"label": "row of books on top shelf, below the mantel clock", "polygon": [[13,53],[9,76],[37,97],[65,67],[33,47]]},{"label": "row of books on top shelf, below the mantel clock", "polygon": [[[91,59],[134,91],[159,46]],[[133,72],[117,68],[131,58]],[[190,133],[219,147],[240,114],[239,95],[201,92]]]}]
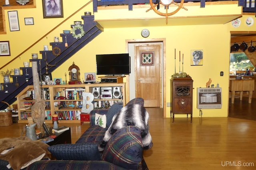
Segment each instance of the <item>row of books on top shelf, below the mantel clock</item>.
[{"label": "row of books on top shelf, below the mantel clock", "polygon": [[83,100],[83,92],[85,92],[85,88],[66,88],[57,92],[56,96],[64,96],[68,100]]}]

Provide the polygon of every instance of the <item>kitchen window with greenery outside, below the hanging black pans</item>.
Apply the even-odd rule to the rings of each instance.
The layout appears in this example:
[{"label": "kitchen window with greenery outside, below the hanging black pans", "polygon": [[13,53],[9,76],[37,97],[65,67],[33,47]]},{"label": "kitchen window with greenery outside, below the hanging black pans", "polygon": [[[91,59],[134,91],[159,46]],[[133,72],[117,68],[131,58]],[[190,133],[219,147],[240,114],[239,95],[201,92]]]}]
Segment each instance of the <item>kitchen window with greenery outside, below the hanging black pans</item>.
[{"label": "kitchen window with greenery outside, below the hanging black pans", "polygon": [[230,53],[229,70],[231,75],[246,73],[246,68],[250,71],[254,70],[253,64],[244,52]]}]

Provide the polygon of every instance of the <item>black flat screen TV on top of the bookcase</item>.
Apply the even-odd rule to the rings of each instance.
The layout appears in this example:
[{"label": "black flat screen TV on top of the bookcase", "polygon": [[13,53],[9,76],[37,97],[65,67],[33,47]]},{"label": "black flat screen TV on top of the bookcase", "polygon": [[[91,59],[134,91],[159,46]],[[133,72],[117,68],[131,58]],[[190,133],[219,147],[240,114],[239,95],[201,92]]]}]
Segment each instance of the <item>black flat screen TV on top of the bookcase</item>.
[{"label": "black flat screen TV on top of the bookcase", "polygon": [[97,54],[97,75],[122,75],[130,73],[129,54]]}]

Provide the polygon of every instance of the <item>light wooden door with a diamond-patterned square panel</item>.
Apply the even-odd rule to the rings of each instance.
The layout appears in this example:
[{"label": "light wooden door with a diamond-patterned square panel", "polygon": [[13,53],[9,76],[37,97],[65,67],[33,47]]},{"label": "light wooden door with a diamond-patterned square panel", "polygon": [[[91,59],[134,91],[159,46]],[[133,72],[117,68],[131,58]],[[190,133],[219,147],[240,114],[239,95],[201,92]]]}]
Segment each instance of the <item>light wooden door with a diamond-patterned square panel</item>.
[{"label": "light wooden door with a diamond-patterned square panel", "polygon": [[135,95],[144,99],[145,107],[160,107],[162,44],[135,47]]}]

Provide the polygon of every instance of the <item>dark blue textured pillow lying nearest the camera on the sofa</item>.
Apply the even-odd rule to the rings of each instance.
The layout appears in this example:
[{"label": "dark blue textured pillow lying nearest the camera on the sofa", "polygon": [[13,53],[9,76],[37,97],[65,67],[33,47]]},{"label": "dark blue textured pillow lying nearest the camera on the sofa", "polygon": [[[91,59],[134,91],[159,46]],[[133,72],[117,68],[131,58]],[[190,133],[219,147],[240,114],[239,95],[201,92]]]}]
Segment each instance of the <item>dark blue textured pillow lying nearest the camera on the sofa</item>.
[{"label": "dark blue textured pillow lying nearest the camera on the sofa", "polygon": [[47,148],[57,160],[100,160],[98,145],[57,144]]}]

